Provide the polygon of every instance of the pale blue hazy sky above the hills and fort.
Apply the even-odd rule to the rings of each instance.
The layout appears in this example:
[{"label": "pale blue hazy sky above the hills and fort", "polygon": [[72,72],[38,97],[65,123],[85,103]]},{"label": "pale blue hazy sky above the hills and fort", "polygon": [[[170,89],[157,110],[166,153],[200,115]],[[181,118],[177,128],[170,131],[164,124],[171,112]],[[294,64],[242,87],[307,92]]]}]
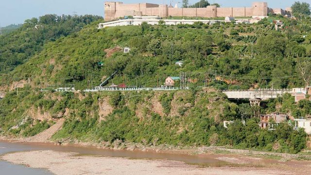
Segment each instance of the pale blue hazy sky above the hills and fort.
[{"label": "pale blue hazy sky above the hills and fort", "polygon": [[[45,14],[72,15],[100,15],[104,16],[105,0],[0,0],[0,26],[23,23],[25,19],[39,17]],[[113,0],[107,0],[113,1]],[[124,3],[170,3],[170,0],[119,0]],[[173,0],[173,5],[182,0]],[[193,4],[199,0],[190,0]],[[260,0],[208,0],[210,3],[219,3],[223,7],[244,7],[250,6],[252,1]],[[289,7],[295,0],[264,0],[268,6]],[[311,0],[302,0],[311,3]]]}]

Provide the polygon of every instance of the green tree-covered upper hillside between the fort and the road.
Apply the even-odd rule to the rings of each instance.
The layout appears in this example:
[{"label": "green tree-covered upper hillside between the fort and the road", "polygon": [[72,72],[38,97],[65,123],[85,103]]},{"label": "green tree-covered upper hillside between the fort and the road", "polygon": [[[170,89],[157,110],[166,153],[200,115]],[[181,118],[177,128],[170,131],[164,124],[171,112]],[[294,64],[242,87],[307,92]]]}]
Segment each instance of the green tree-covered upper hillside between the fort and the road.
[{"label": "green tree-covered upper hillside between the fort and the road", "polygon": [[[17,64],[26,63],[2,75],[1,83],[30,78],[34,88],[44,87],[44,82],[85,89],[90,84],[98,86],[104,77],[119,70],[113,81],[121,84],[125,78],[128,86],[157,86],[167,76],[190,72],[198,80],[193,87],[203,86],[203,73],[208,73],[209,80],[220,76],[221,82],[210,81],[210,86],[218,88],[303,87],[307,83],[303,76],[307,75],[296,65],[310,61],[306,58],[310,56],[306,34],[310,29],[303,27],[310,24],[305,24],[307,20],[300,24],[281,19],[285,25],[279,31],[270,19],[237,26],[146,24],[103,30],[96,29],[97,21],[73,35],[55,37],[56,41],[47,42],[41,52],[29,53],[29,59],[24,59],[26,53],[18,53],[23,56]],[[114,52],[125,46],[131,47],[131,53]],[[174,65],[178,60],[184,61],[183,67]],[[104,66],[99,67],[99,62]]]}]

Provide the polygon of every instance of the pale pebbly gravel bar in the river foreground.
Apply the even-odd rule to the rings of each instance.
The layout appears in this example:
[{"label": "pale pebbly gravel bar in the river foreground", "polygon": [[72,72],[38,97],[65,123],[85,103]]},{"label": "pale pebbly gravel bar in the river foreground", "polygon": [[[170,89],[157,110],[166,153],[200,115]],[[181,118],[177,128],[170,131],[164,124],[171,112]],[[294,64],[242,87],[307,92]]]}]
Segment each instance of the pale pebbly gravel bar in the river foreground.
[{"label": "pale pebbly gravel bar in the river foreground", "polygon": [[16,164],[45,168],[56,175],[294,175],[289,170],[255,167],[200,168],[179,161],[79,156],[77,153],[28,151],[1,157]]}]

